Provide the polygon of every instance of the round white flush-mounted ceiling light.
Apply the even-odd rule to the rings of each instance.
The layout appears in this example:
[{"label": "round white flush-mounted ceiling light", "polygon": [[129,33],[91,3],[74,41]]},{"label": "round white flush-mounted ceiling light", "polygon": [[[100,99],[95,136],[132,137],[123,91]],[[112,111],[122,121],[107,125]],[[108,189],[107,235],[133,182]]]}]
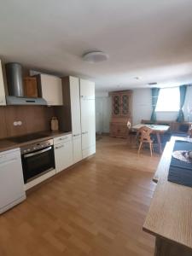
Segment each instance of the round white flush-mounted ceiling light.
[{"label": "round white flush-mounted ceiling light", "polygon": [[108,55],[102,52],[101,50],[93,50],[85,53],[83,56],[84,61],[88,61],[91,63],[107,61]]}]

